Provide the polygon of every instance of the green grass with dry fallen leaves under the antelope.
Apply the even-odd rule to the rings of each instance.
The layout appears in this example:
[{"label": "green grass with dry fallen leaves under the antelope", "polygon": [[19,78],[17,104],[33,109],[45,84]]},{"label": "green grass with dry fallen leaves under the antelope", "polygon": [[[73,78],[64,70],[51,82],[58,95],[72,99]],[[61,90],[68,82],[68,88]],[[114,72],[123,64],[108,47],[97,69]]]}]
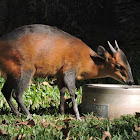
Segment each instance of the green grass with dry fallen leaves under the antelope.
[{"label": "green grass with dry fallen leaves under the antelope", "polygon": [[[4,79],[0,79],[2,88]],[[81,103],[82,88],[76,89],[77,103]],[[66,97],[69,97],[68,92]],[[59,114],[59,90],[44,79],[33,81],[26,89],[24,103],[33,115],[34,121],[21,113],[14,116],[0,93],[0,140],[139,140],[140,118],[122,116],[119,119],[103,119],[84,114],[82,121],[72,114]],[[16,104],[16,102],[14,101]]]}]

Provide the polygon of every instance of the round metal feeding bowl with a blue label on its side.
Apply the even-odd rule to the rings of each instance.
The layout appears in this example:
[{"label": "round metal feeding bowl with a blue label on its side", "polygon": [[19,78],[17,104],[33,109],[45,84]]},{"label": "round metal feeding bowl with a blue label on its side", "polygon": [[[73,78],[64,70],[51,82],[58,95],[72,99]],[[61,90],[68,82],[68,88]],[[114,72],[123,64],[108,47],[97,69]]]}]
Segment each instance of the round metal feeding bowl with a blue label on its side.
[{"label": "round metal feeding bowl with a blue label on its side", "polygon": [[104,118],[140,112],[140,86],[87,84],[83,86],[81,112]]}]

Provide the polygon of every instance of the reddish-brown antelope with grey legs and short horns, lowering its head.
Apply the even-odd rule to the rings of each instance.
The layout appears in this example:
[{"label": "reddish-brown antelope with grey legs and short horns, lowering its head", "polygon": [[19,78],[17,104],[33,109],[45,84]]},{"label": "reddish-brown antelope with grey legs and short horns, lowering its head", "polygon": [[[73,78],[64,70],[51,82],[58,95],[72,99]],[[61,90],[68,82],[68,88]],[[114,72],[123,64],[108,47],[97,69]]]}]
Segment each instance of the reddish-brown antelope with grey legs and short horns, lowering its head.
[{"label": "reddish-brown antelope with grey legs and short horns, lowering its head", "polygon": [[47,25],[27,25],[0,38],[0,68],[7,75],[2,88],[16,115],[17,101],[26,116],[31,114],[22,95],[32,77],[56,75],[60,90],[60,111],[64,114],[64,94],[68,89],[76,118],[80,120],[75,101],[75,80],[112,77],[126,84],[133,83],[129,63],[115,41],[108,42],[112,54],[99,46],[97,53],[80,39]]}]

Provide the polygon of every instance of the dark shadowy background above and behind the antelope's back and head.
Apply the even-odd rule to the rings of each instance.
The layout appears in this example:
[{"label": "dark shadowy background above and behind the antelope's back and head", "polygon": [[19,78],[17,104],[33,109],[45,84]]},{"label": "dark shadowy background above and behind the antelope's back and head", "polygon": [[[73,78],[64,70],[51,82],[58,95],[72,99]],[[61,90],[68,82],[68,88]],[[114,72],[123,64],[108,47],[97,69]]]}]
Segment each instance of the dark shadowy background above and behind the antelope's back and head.
[{"label": "dark shadowy background above and behind the antelope's back and head", "polygon": [[116,39],[140,84],[139,0],[0,0],[0,35],[34,23],[56,26],[95,51]]}]

